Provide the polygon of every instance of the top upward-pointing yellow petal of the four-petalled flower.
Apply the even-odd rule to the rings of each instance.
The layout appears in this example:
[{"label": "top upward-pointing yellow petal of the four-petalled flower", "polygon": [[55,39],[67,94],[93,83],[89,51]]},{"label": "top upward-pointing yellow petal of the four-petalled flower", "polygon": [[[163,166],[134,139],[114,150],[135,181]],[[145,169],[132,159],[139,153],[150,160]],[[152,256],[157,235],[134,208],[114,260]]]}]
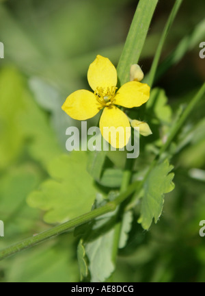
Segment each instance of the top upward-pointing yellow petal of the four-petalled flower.
[{"label": "top upward-pointing yellow petal of the four-petalled flower", "polygon": [[108,58],[98,55],[94,62],[90,64],[87,80],[93,90],[97,88],[111,89],[112,86],[117,85],[117,71]]}]

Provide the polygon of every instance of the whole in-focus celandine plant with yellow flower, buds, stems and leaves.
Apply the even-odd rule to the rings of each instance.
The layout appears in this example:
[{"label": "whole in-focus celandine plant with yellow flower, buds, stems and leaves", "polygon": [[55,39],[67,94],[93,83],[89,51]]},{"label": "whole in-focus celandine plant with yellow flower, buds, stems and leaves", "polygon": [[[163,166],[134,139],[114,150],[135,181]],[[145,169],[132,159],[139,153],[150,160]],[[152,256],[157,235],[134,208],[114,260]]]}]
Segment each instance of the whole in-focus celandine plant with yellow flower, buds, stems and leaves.
[{"label": "whole in-focus celandine plant with yellow flower, buds, stems and leaves", "polygon": [[[87,73],[93,92],[77,90],[62,106],[69,116],[83,122],[102,112],[100,136],[116,151],[72,151],[53,160],[51,178],[27,201],[29,206],[46,212],[46,223],[57,226],[6,247],[0,251],[0,260],[74,230],[81,280],[111,282],[119,249],[126,247],[131,231],[136,235],[132,226],[137,221],[143,230],[149,230],[153,221],[159,221],[165,193],[174,189],[174,167],[170,162],[178,149],[171,144],[204,96],[205,84],[177,116],[172,116],[163,90],[153,88],[156,77],[167,69],[165,63],[159,73],[159,59],[182,0],[174,3],[150,73],[144,77],[139,58],[157,3],[158,0],[139,1],[117,69],[108,58],[98,55]],[[153,107],[162,101],[165,114]],[[152,128],[153,119],[157,128]],[[135,130],[141,136],[153,133],[143,138],[138,159],[128,158],[126,149],[120,151]]]}]

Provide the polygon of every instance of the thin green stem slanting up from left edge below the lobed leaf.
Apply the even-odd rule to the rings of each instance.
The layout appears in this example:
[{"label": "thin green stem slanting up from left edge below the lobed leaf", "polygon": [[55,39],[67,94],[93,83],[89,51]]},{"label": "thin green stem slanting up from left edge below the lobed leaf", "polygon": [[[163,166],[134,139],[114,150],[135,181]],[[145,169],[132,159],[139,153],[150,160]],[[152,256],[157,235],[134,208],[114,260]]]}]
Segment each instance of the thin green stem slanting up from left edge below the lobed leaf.
[{"label": "thin green stem slanting up from left edge below the lobed leaf", "polygon": [[80,217],[72,219],[66,223],[55,226],[51,228],[51,230],[47,230],[31,238],[27,238],[20,243],[16,243],[10,247],[2,249],[0,251],[0,260],[3,260],[13,254],[16,254],[19,251],[23,251],[24,249],[27,249],[29,247],[33,247],[39,243],[42,243],[44,240],[47,240],[49,238],[52,238],[64,232],[67,232],[68,230],[72,230],[74,227],[77,227],[83,223],[91,221],[96,217],[100,217],[101,215],[106,214],[107,212],[113,212],[116,206],[121,204],[122,201],[124,201],[129,195],[131,195],[131,193],[135,191],[137,184],[138,182],[131,184],[131,186],[128,187],[128,190],[126,190],[126,192],[120,194],[114,201],[107,203],[105,206],[102,206],[101,208],[97,208],[92,212],[88,212],[87,214],[83,214]]}]

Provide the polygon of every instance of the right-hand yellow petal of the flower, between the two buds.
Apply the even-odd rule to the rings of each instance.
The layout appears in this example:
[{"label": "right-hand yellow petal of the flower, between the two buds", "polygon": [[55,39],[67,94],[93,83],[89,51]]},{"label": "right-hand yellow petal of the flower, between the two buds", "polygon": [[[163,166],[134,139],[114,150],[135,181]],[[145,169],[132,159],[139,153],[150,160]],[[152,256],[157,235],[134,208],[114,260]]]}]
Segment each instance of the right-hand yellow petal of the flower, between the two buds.
[{"label": "right-hand yellow petal of the flower, between the two buds", "polygon": [[150,86],[141,82],[127,82],[115,95],[115,105],[126,108],[139,107],[150,97]]}]

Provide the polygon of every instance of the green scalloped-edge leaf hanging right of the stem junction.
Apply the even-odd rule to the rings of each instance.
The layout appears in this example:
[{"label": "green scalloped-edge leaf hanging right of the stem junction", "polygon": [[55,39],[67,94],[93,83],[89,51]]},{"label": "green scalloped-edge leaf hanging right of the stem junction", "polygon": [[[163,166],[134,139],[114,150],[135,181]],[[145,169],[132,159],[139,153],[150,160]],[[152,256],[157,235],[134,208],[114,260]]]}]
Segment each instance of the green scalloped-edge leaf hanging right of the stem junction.
[{"label": "green scalloped-edge leaf hanging right of the stem junction", "polygon": [[172,169],[168,160],[165,160],[152,169],[144,183],[141,216],[138,222],[145,230],[149,229],[153,218],[155,223],[158,221],[163,210],[164,194],[174,189],[174,173],[169,173]]}]

